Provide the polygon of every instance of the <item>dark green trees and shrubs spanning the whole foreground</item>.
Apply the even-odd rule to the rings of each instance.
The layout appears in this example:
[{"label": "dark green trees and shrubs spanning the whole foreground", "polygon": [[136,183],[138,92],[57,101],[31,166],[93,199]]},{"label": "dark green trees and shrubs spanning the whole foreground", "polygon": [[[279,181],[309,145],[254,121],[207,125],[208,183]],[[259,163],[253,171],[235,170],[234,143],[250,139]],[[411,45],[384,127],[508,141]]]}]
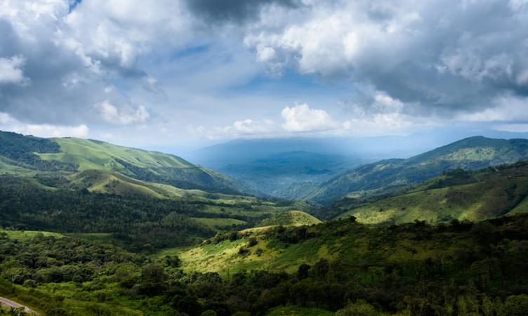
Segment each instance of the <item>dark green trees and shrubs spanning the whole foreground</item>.
[{"label": "dark green trees and shrubs spanning the whole foreground", "polygon": [[0,236],[0,294],[46,315],[509,316],[528,303],[526,215],[436,227],[338,220],[229,238],[211,239],[209,252],[239,242],[234,256],[268,256],[275,268],[235,263],[218,275],[173,254]]}]

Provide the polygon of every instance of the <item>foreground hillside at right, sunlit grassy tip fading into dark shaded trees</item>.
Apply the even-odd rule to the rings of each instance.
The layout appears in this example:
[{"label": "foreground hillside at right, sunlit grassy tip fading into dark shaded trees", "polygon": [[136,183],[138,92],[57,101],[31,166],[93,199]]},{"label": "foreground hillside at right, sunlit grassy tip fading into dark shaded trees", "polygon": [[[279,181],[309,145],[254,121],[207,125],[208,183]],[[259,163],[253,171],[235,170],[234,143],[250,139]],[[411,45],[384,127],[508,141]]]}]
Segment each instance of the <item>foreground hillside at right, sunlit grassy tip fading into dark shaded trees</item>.
[{"label": "foreground hillside at right, sunlit grassy tip fading into dark shaded trees", "polygon": [[[505,305],[499,301],[528,291],[522,268],[527,220],[524,214],[437,227],[336,220],[218,234],[201,246],[158,256],[177,254],[185,273],[216,272],[237,284],[258,279],[265,286],[284,279],[254,298],[265,306],[297,303],[335,310],[331,302],[348,299],[350,312],[341,315],[517,315],[502,313]],[[280,276],[281,271],[291,277]],[[352,312],[358,308],[370,313]],[[486,314],[489,310],[494,311]]]}]

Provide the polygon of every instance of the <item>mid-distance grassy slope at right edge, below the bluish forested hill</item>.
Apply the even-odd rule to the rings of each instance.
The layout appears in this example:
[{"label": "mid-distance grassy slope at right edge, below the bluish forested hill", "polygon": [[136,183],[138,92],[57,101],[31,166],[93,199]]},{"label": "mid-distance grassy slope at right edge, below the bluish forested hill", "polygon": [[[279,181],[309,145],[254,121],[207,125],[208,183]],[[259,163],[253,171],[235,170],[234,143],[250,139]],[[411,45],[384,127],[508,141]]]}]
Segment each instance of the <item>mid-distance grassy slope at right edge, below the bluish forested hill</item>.
[{"label": "mid-distance grassy slope at right edge, below the bluish forested hill", "polygon": [[[442,183],[448,185],[442,187]],[[449,185],[449,183],[454,183]],[[462,178],[440,176],[402,195],[354,206],[336,204],[343,213],[361,223],[429,223],[458,220],[484,220],[528,212],[528,165],[467,173]]]}]

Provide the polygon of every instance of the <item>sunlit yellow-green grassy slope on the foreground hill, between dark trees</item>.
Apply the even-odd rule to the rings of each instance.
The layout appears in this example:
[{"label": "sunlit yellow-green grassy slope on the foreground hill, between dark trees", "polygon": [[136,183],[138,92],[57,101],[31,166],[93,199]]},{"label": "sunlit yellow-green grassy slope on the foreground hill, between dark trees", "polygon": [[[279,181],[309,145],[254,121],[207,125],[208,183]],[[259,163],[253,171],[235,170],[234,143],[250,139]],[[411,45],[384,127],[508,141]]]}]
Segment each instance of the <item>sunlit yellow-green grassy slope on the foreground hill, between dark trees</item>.
[{"label": "sunlit yellow-green grassy slope on the foreground hill, between dark trees", "polygon": [[[414,224],[408,225],[412,227]],[[321,230],[324,231],[322,235]],[[272,231],[266,230],[246,232],[235,241],[224,240],[218,244],[211,242],[187,249],[166,250],[162,254],[178,254],[183,270],[218,272],[223,276],[253,269],[293,273],[299,265],[313,265],[320,258],[329,261],[339,259],[351,269],[357,269],[356,273],[367,274],[367,271],[362,271],[362,267],[376,266],[382,261],[400,264],[423,261],[431,256],[455,256],[457,251],[470,249],[473,245],[468,236],[455,232],[442,232],[431,238],[417,240],[407,234],[404,227],[393,230],[388,226],[378,226],[373,230],[369,226],[347,221],[307,228],[307,232],[312,231],[318,231],[319,236],[294,244],[276,242],[269,237]],[[251,237],[256,237],[258,244],[249,247]],[[242,247],[249,249],[249,252],[240,254],[239,249]]]}]

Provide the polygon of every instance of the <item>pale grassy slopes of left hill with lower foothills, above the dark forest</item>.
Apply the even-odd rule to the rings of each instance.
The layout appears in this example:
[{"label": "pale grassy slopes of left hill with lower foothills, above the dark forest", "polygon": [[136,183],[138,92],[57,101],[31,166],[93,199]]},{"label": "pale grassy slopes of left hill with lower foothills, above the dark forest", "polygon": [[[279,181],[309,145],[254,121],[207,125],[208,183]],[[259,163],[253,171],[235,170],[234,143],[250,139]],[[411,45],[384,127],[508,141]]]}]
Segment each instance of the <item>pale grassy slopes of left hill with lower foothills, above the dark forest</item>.
[{"label": "pale grassy slopes of left hill with lower foothills, above the dark forest", "polygon": [[[232,179],[194,166],[172,154],[79,138],[32,138],[4,132],[0,132],[0,136],[4,154],[15,152],[18,155],[11,154],[15,159],[25,159],[23,162],[14,161],[0,152],[0,174],[23,177],[32,185],[46,190],[87,189],[110,195],[200,203],[204,205],[202,213],[209,215],[197,221],[216,229],[232,228],[232,225],[247,227],[246,217],[255,218],[251,223],[258,223],[262,218],[293,207],[277,206],[275,202],[237,195],[237,190],[234,190],[237,185]],[[27,143],[27,148],[20,149],[16,146],[18,143]],[[44,148],[46,153],[39,153],[40,148]],[[32,155],[36,158],[32,158]],[[42,164],[35,163],[39,159],[44,165],[54,162],[62,164],[58,164],[59,170],[40,170]],[[78,171],[61,170],[64,165],[74,166]],[[295,207],[306,209],[301,204]]]}]

